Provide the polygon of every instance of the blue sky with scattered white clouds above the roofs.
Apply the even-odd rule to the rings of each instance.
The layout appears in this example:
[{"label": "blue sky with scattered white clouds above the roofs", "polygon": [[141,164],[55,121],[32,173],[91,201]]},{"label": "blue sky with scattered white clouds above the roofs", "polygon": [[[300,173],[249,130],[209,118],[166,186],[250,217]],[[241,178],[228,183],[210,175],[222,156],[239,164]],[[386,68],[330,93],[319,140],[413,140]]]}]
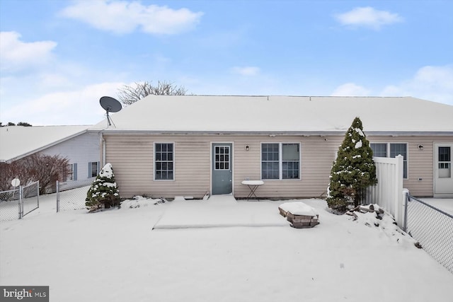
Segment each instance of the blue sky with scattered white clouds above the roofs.
[{"label": "blue sky with scattered white clouds above the roofs", "polygon": [[137,81],[453,105],[452,16],[449,0],[0,0],[0,121],[94,124]]}]

